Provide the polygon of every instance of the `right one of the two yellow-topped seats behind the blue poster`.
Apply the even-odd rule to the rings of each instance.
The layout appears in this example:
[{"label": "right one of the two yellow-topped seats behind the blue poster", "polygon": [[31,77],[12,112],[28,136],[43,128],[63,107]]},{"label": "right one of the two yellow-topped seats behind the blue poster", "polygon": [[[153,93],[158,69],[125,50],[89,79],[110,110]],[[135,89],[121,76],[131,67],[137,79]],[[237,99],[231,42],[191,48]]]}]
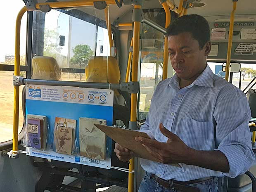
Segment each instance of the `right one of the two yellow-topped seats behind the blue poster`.
[{"label": "right one of the two yellow-topped seats behind the blue poster", "polygon": [[[85,81],[95,83],[119,83],[120,81],[119,65],[115,57],[97,56],[91,57],[88,64],[85,66]],[[127,93],[127,92],[126,92]],[[122,120],[126,127],[128,127],[130,120],[130,108],[125,107],[121,100],[130,103],[130,97],[126,97],[125,92],[114,90],[114,109],[113,109],[113,123],[115,120]],[[128,93],[129,95],[129,93]],[[129,95],[130,96],[130,95]],[[119,161],[114,153],[114,141],[112,141],[111,166],[128,168],[127,162]],[[98,168],[98,171],[107,178],[125,178],[127,173],[116,171],[113,169],[107,170]]]}]

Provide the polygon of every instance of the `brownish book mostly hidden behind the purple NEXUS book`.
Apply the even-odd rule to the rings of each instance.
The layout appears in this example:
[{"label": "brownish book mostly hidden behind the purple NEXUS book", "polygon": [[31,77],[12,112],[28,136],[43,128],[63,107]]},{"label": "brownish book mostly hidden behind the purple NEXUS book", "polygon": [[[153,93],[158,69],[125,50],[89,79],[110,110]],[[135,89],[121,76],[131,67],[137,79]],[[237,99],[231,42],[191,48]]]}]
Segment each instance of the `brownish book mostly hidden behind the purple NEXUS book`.
[{"label": "brownish book mostly hidden behind the purple NEXUS book", "polygon": [[45,115],[34,115],[34,114],[27,114],[27,119],[40,119],[43,120],[43,132],[40,133],[41,137],[41,148],[42,150],[45,150],[47,148],[47,116]]}]

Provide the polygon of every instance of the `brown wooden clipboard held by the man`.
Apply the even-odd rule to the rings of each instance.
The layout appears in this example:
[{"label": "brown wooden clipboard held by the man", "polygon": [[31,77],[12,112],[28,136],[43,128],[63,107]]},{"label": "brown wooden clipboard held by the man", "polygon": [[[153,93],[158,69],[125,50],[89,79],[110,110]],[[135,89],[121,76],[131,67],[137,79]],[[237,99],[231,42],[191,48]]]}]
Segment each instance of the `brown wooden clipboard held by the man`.
[{"label": "brown wooden clipboard held by the man", "polygon": [[[155,158],[147,150],[142,146],[140,142],[135,141],[135,137],[150,137],[147,133],[134,131],[130,129],[122,129],[118,127],[105,126],[101,124],[94,124],[97,128],[102,130],[107,136],[109,136],[112,140],[119,143],[121,146],[130,149],[135,153],[135,156],[140,157],[142,159],[148,159],[150,161],[160,162],[159,159]],[[169,164],[176,167],[181,167],[179,164]]]}]

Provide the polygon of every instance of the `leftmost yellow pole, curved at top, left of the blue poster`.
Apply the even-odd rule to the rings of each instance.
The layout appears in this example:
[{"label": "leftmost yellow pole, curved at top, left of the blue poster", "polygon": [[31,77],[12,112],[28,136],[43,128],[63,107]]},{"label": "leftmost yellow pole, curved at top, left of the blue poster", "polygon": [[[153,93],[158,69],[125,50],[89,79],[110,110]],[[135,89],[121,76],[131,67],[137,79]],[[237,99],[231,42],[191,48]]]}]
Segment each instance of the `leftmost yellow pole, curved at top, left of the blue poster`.
[{"label": "leftmost yellow pole, curved at top, left of the blue poster", "polygon": [[[26,6],[22,7],[16,19],[14,76],[19,76],[21,19],[26,11],[27,11]],[[18,151],[18,133],[19,133],[19,85],[14,85],[12,151]]]}]

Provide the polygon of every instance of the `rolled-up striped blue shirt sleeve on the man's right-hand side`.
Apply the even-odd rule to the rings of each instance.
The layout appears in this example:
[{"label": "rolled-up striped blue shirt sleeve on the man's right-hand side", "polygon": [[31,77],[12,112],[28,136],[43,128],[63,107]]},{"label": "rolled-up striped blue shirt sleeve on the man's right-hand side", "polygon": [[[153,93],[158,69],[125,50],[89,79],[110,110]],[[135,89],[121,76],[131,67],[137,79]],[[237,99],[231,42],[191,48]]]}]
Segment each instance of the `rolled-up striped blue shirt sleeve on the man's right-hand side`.
[{"label": "rolled-up striped blue shirt sleeve on the man's right-hand side", "polygon": [[255,159],[248,126],[251,110],[244,93],[233,90],[217,100],[213,116],[216,121],[216,150],[221,151],[229,163],[229,172],[223,175],[235,178],[245,173]]}]

